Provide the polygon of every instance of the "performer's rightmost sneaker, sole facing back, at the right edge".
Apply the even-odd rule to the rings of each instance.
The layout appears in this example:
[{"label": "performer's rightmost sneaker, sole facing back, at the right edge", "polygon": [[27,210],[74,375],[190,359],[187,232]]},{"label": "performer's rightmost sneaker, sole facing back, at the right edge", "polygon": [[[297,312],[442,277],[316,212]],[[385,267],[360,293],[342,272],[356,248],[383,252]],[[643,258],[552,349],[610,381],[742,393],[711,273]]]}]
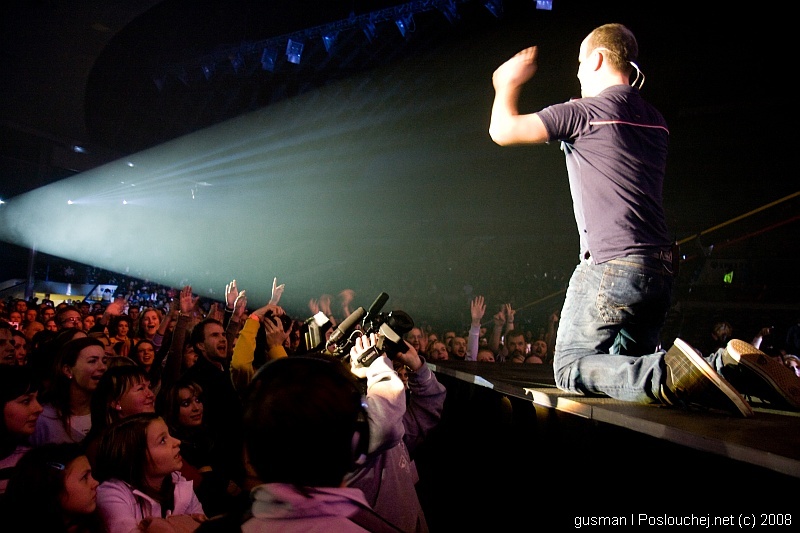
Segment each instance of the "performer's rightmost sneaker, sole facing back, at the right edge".
[{"label": "performer's rightmost sneaker, sole facing back, at the right edge", "polygon": [[800,379],[779,359],[752,344],[733,339],[723,354],[726,368],[737,365],[741,391],[770,404],[800,409]]}]

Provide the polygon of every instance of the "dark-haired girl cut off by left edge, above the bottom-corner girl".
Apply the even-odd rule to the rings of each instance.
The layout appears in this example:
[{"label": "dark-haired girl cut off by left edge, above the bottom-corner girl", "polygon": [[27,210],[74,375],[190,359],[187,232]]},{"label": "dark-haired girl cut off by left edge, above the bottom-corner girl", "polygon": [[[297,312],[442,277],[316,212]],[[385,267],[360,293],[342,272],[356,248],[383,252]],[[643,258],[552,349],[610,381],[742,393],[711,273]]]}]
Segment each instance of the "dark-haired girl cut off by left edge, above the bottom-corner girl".
[{"label": "dark-haired girl cut off by left edge, above the bottom-corner girl", "polygon": [[42,414],[33,371],[25,366],[0,365],[0,494],[13,468],[30,450],[28,438]]}]

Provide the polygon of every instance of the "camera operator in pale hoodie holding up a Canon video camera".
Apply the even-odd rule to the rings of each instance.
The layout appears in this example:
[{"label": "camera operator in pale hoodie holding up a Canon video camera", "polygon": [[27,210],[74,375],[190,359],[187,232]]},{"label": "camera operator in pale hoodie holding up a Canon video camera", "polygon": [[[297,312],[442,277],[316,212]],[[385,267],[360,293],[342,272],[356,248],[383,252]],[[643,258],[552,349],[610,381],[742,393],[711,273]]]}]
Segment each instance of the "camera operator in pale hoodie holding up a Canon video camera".
[{"label": "camera operator in pale hoodie holding up a Canon video camera", "polygon": [[447,391],[404,340],[400,343],[406,350],[393,353],[393,358],[411,370],[408,393],[386,353],[362,366],[359,360],[377,349],[380,340],[376,333],[361,335],[350,350],[352,372],[366,379],[370,438],[366,457],[345,482],[360,488],[370,506],[402,530],[426,532],[428,524],[415,487],[419,476],[411,455],[439,423]]}]

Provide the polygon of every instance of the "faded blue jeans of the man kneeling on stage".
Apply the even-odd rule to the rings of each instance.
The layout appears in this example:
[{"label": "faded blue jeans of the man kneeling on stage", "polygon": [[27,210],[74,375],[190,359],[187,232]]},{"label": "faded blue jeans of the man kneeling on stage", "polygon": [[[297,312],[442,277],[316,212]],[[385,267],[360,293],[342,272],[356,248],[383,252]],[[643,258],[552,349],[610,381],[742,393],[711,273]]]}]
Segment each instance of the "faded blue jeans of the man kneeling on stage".
[{"label": "faded blue jeans of the man kneeling on stage", "polygon": [[660,401],[660,333],[672,303],[671,261],[629,255],[575,267],[561,310],[553,361],[567,392]]}]

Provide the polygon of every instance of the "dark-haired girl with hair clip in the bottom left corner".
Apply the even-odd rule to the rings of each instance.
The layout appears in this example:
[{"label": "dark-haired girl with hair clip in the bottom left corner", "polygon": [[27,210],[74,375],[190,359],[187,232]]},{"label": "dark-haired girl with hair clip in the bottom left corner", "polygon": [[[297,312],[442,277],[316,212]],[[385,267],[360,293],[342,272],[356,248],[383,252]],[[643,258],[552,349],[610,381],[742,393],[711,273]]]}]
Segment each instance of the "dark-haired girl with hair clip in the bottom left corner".
[{"label": "dark-haired girl with hair clip in the bottom left corner", "polygon": [[17,463],[3,502],[8,533],[99,533],[97,481],[75,443],[46,444]]}]

